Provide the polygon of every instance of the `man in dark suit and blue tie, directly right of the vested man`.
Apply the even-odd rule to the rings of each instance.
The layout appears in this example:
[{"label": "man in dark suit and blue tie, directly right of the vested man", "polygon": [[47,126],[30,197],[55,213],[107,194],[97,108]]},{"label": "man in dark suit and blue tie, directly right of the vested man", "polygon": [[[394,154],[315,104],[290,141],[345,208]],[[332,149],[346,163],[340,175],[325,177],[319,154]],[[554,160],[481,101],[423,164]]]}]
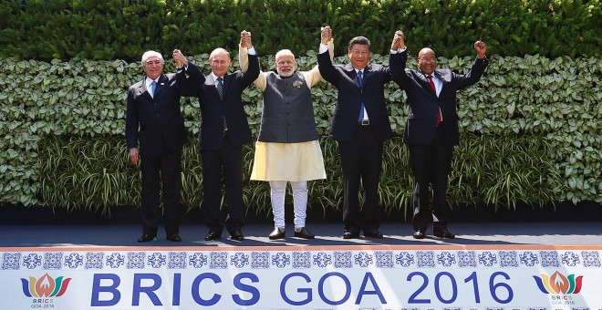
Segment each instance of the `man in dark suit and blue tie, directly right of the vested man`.
[{"label": "man in dark suit and blue tie, directly right of the vested man", "polygon": [[[332,36],[329,26],[323,36]],[[329,39],[329,38],[328,38]],[[392,51],[397,53],[397,51]],[[350,64],[333,65],[327,46],[320,45],[320,74],[338,89],[337,108],[329,137],[337,140],[343,169],[343,238],[382,238],[379,232],[379,177],[383,141],[393,137],[384,86],[391,80],[388,67],[370,64],[370,42],[364,36],[349,41]],[[359,206],[359,181],[364,187]]]}]

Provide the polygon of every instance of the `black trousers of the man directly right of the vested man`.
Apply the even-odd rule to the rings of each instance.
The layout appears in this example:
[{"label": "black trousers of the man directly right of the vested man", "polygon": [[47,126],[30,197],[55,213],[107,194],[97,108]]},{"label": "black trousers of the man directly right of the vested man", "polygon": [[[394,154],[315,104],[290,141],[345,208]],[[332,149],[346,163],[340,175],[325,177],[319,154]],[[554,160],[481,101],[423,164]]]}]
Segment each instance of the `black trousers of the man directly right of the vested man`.
[{"label": "black trousers of the man directly right of the vested man", "polygon": [[[372,232],[380,226],[379,177],[382,142],[372,135],[370,126],[358,125],[353,138],[339,141],[343,169],[343,224],[349,232]],[[359,182],[363,186],[361,209]]]}]

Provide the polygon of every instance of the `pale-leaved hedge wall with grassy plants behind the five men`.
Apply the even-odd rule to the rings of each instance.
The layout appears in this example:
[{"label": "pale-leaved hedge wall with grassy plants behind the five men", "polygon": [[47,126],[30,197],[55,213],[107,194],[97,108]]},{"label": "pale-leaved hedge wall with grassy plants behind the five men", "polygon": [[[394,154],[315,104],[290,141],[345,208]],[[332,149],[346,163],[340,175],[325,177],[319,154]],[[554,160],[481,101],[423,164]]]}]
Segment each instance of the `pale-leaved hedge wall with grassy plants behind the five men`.
[{"label": "pale-leaved hedge wall with grassy plants behind the five men", "polygon": [[[410,54],[415,51],[410,46]],[[274,67],[273,56],[258,53],[264,70]],[[209,72],[207,57],[191,59]],[[473,57],[440,57],[439,66],[465,72]],[[388,65],[388,57],[374,55],[372,61]],[[298,57],[299,69],[316,62],[314,51]],[[416,59],[410,56],[408,63],[415,67]],[[168,62],[166,71],[173,69]],[[451,201],[498,207],[602,202],[601,71],[597,57],[491,57],[482,80],[459,93],[462,144],[453,163]],[[136,205],[139,173],[128,165],[123,132],[127,88],[142,77],[138,61],[0,58],[0,202],[103,212]],[[401,134],[408,110],[405,93],[394,83],[385,92],[389,119]],[[324,138],[337,90],[322,81],[312,93],[328,180],[311,182],[311,200],[325,209],[337,208],[342,192],[337,148]],[[244,101],[250,103],[245,109],[256,134],[261,91],[246,89]],[[182,112],[192,140],[184,156],[182,198],[194,208],[202,200],[194,137],[198,102],[182,99]],[[246,150],[247,173],[252,150]],[[394,139],[385,151],[381,202],[388,210],[405,208],[411,191],[406,148]],[[245,186],[245,200],[257,212],[266,212],[267,195],[265,182]]]}]

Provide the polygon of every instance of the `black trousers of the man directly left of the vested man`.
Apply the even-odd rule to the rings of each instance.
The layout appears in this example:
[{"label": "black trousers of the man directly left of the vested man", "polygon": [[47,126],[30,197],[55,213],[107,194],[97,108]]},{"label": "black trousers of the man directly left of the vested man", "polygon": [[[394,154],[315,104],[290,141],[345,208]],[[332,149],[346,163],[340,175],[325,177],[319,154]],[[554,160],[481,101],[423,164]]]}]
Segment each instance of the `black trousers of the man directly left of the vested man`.
[{"label": "black trousers of the man directly left of the vested man", "polygon": [[[233,228],[244,225],[242,149],[242,146],[234,145],[226,135],[221,149],[201,150],[203,205],[205,222],[210,230],[221,232],[223,221]],[[228,204],[224,220],[220,217],[222,178],[225,201]]]}]

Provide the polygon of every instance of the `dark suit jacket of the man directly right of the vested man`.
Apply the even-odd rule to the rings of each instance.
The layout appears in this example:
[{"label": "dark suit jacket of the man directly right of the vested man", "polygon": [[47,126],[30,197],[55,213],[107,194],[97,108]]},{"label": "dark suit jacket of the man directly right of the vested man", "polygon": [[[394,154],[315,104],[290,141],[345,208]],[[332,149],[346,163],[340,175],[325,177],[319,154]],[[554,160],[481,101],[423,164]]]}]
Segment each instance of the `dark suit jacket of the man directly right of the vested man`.
[{"label": "dark suit jacket of the man directly right of the vested man", "polygon": [[337,109],[328,137],[337,141],[351,140],[358,127],[359,107],[362,102],[368,111],[370,129],[379,141],[393,137],[389,112],[385,104],[384,86],[391,80],[388,67],[368,65],[364,68],[363,90],[359,88],[358,74],[348,65],[333,65],[328,53],[317,56],[322,78],[338,89]]}]

